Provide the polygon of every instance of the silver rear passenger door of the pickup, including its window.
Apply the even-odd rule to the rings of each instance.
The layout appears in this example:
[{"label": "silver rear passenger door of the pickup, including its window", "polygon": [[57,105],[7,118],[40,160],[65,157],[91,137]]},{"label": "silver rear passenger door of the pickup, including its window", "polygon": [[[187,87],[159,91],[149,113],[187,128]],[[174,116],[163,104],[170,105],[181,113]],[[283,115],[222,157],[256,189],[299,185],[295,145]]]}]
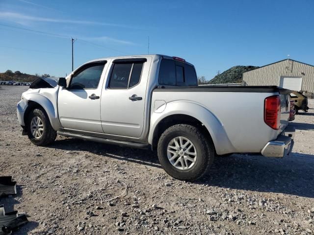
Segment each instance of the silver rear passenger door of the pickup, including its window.
[{"label": "silver rear passenger door of the pickup, including its window", "polygon": [[151,60],[147,57],[112,62],[101,99],[101,123],[105,134],[141,136]]}]

